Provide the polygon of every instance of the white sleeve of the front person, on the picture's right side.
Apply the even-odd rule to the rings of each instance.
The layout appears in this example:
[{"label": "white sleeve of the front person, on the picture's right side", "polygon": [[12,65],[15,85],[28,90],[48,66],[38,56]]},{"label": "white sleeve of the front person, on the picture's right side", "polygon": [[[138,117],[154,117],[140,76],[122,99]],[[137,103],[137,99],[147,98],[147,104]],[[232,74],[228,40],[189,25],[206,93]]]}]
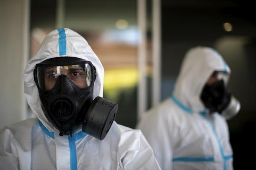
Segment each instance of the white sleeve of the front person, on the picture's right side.
[{"label": "white sleeve of the front person, on the picture's right side", "polygon": [[153,150],[140,130],[126,130],[122,134],[118,154],[122,170],[160,170]]}]

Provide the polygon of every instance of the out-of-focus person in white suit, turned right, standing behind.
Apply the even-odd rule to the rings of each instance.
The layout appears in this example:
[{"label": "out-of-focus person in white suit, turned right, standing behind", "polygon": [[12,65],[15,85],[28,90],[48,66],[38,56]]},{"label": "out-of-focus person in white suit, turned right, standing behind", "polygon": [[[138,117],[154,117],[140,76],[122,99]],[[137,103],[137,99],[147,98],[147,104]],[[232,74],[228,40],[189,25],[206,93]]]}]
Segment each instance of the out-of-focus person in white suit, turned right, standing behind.
[{"label": "out-of-focus person in white suit, turned right, standing behind", "polygon": [[232,170],[226,119],[240,109],[226,89],[230,68],[217,51],[190,49],[171,98],[143,114],[142,130],[163,170]]}]

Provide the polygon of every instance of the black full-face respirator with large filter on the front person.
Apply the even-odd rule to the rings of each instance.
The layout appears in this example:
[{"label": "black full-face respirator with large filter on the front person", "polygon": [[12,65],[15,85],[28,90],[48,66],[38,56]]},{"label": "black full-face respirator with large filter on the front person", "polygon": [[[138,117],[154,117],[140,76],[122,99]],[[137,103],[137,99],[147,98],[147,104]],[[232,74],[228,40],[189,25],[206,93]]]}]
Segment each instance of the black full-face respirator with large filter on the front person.
[{"label": "black full-face respirator with large filter on the front person", "polygon": [[42,110],[60,136],[72,135],[80,126],[97,139],[107,135],[118,105],[100,96],[93,100],[95,79],[93,64],[76,57],[55,57],[35,66]]}]

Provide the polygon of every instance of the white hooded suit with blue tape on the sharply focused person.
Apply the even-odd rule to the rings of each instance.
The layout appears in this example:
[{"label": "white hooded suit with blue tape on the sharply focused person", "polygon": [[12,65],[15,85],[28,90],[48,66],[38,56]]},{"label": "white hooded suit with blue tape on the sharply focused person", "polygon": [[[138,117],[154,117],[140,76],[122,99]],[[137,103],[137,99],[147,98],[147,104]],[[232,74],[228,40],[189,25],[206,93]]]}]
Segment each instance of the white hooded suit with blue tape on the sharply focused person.
[{"label": "white hooded suit with blue tape on the sharply focused person", "polygon": [[140,130],[113,122],[103,140],[84,133],[81,127],[72,134],[59,135],[59,130],[42,111],[33,77],[36,64],[54,57],[90,61],[97,74],[93,99],[102,97],[104,69],[87,41],[68,28],[50,32],[24,71],[26,99],[36,118],[0,131],[0,170],[159,169],[153,150]]}]

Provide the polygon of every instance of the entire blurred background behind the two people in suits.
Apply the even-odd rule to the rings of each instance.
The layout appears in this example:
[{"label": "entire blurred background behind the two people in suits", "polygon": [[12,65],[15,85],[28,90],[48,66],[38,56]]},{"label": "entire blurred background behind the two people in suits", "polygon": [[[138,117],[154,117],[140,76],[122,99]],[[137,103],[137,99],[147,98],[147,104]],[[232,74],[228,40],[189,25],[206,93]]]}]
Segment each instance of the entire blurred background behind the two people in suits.
[{"label": "entire blurred background behind the two people in suits", "polygon": [[[241,102],[240,113],[228,121],[234,168],[253,165],[256,19],[251,1],[0,0],[0,12],[0,128],[33,116],[24,99],[23,69],[55,28],[73,29],[88,41],[105,68],[104,97],[119,103],[116,122],[132,128],[140,108],[155,105],[154,90],[160,101],[171,96],[186,51],[209,46],[230,66],[228,88]],[[156,39],[160,51],[154,58]]]}]

